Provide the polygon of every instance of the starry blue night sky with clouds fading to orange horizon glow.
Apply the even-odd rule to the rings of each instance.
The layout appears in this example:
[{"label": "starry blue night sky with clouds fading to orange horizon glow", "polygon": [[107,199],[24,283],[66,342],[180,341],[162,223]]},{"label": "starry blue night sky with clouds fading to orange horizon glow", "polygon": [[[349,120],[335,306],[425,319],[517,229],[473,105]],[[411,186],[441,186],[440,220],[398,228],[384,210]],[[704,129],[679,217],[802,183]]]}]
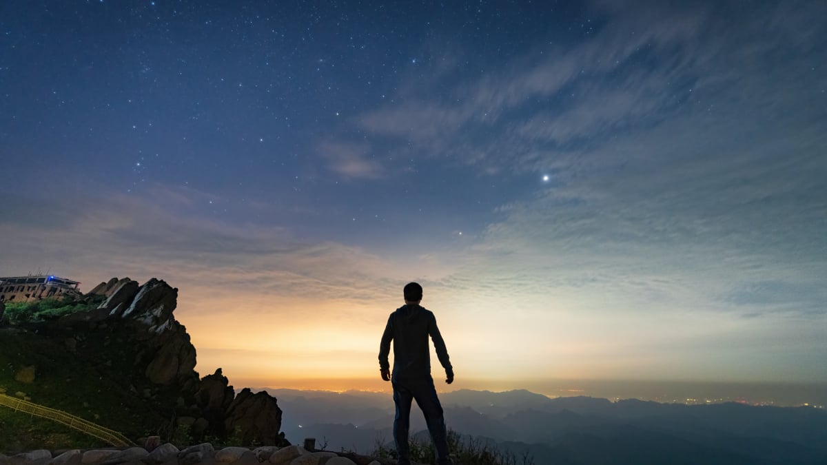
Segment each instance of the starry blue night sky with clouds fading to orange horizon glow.
[{"label": "starry blue night sky with clouds fading to orange horizon glow", "polygon": [[827,382],[827,3],[618,3],[6,0],[0,276],[236,386],[385,387],[409,280],[458,387]]}]

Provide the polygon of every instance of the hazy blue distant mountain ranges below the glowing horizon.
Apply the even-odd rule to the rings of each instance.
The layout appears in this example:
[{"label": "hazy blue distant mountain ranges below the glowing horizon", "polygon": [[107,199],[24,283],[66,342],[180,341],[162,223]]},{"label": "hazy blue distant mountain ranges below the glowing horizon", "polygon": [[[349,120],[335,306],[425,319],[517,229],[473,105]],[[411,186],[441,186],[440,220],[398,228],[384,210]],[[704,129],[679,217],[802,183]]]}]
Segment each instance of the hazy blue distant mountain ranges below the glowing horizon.
[{"label": "hazy blue distant mountain ranges below the glowing horizon", "polygon": [[[282,428],[291,438],[315,437],[328,448],[358,452],[392,440],[388,393],[266,391],[279,398]],[[459,390],[440,397],[449,428],[531,453],[538,464],[827,463],[827,412],[810,407],[552,399],[524,390]],[[422,435],[424,429],[414,407],[412,431]]]}]

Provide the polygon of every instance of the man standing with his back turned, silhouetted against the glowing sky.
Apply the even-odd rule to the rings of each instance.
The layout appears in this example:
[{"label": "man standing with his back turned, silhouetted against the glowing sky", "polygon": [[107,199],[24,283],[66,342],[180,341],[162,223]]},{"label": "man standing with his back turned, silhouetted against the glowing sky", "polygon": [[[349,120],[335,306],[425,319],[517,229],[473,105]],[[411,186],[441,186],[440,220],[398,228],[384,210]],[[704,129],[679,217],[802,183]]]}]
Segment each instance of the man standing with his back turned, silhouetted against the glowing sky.
[{"label": "man standing with his back turned, silhouetted against the glowing sky", "polygon": [[[445,341],[437,328],[437,319],[429,310],[419,306],[422,301],[422,286],[415,282],[404,287],[405,304],[396,309],[388,318],[385,333],[379,347],[379,367],[382,379],[394,386],[394,442],[399,454],[399,465],[410,464],[408,429],[410,426],[411,401],[416,399],[422,409],[433,448],[437,451],[437,463],[450,465],[447,433],[442,405],[439,404],[437,389],[431,377],[431,355],[428,336],[433,340],[437,357],[445,368],[445,382],[454,381],[454,370],[448,359]],[[394,372],[390,373],[388,354],[390,341],[394,341]]]}]

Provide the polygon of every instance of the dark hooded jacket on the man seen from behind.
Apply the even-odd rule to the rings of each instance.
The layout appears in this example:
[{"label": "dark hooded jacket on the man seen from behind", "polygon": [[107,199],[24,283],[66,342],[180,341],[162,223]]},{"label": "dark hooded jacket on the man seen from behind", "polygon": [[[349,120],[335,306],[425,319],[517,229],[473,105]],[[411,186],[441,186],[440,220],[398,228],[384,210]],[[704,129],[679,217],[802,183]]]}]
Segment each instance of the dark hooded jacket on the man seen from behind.
[{"label": "dark hooded jacket on the man seen from behind", "polygon": [[409,380],[431,376],[431,357],[428,336],[433,339],[437,357],[448,376],[453,376],[445,341],[437,328],[437,319],[428,309],[417,304],[405,304],[390,314],[379,347],[379,366],[390,368],[388,354],[394,341],[394,380]]}]

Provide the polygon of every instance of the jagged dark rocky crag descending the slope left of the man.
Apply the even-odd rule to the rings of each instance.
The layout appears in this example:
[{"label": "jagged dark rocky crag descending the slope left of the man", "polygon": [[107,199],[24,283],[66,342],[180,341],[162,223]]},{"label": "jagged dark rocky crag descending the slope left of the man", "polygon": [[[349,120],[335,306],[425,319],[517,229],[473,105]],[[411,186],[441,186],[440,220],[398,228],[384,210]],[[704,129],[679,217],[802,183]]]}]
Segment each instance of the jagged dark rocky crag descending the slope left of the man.
[{"label": "jagged dark rocky crag descending the slope left of the man", "polygon": [[[87,302],[101,302],[96,309],[55,320],[53,332],[67,348],[93,359],[102,372],[117,369],[112,352],[131,359],[134,367],[124,384],[132,391],[150,399],[174,395],[177,400],[165,404],[174,405],[177,419],[165,427],[170,434],[183,426],[194,438],[237,434],[245,445],[288,444],[280,434],[281,410],[275,398],[249,389],[235,395],[221,368],[198,378],[195,348],[173,315],[177,298],[178,290],[163,280],[138,285],[129,278],[112,278],[84,296]],[[78,328],[91,333],[74,335]]]}]

